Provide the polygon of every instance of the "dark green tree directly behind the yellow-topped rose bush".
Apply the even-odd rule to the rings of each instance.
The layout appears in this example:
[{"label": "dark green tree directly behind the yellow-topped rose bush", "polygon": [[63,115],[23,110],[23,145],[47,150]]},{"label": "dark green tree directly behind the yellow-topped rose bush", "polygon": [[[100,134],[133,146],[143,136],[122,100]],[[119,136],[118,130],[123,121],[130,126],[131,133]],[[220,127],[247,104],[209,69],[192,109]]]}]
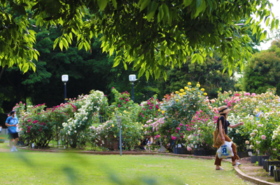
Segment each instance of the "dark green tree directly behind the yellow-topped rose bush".
[{"label": "dark green tree directly behind the yellow-topped rose bush", "polygon": [[175,92],[186,86],[188,82],[200,82],[201,88],[209,97],[214,98],[218,95],[218,90],[235,90],[234,76],[223,74],[223,63],[221,57],[214,53],[213,58],[206,58],[202,64],[194,64],[191,58],[187,58],[186,64],[183,64],[181,69],[174,67],[167,70],[167,81],[160,78],[160,96]]}]

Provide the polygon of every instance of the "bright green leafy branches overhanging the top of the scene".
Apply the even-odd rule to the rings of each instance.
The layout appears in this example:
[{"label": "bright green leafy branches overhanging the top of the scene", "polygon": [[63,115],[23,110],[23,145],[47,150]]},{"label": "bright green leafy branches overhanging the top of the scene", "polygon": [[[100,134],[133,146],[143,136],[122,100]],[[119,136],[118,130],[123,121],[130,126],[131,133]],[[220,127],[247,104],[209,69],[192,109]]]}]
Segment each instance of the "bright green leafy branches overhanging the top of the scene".
[{"label": "bright green leafy branches overhanging the top of the scene", "polygon": [[[114,66],[132,63],[139,76],[146,71],[147,78],[161,73],[167,78],[167,65],[181,67],[187,56],[202,63],[212,50],[221,54],[231,74],[251,57],[246,29],[262,40],[266,31],[260,21],[278,27],[271,7],[267,0],[1,0],[0,65],[35,68],[36,33],[28,28],[46,26],[61,27],[63,34],[54,42],[61,49],[69,48],[76,36],[78,49],[90,51],[92,36],[101,33],[103,51],[116,56]],[[89,11],[93,15],[83,19]],[[260,21],[251,21],[251,14]],[[27,21],[31,16],[35,25]],[[239,20],[246,22],[236,24]]]}]

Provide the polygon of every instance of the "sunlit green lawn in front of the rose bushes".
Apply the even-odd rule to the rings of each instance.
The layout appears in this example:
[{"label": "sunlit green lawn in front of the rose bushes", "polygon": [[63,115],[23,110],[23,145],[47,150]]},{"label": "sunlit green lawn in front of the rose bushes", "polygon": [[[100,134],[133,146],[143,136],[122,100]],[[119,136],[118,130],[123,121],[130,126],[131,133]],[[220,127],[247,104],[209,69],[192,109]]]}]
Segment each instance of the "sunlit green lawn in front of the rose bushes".
[{"label": "sunlit green lawn in front of the rose bushes", "polygon": [[0,144],[1,184],[246,184],[229,163],[215,170],[214,160],[6,149]]}]

